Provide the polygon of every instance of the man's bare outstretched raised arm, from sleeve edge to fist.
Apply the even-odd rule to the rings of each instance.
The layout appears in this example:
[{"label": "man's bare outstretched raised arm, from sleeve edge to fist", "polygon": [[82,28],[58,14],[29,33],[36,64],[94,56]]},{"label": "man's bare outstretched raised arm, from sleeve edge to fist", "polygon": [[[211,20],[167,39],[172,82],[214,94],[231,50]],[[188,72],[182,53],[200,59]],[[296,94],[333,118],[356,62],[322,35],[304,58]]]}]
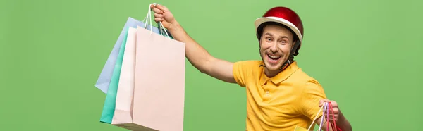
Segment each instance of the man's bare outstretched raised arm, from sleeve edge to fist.
[{"label": "man's bare outstretched raised arm, from sleeve edge to fist", "polygon": [[185,56],[188,61],[200,70],[212,77],[215,77],[224,82],[236,83],[233,78],[233,63],[215,58],[204,49],[200,44],[188,35],[183,27],[176,21],[173,14],[162,5],[152,6],[154,11],[154,20],[161,22],[166,27],[174,39],[185,43]]}]

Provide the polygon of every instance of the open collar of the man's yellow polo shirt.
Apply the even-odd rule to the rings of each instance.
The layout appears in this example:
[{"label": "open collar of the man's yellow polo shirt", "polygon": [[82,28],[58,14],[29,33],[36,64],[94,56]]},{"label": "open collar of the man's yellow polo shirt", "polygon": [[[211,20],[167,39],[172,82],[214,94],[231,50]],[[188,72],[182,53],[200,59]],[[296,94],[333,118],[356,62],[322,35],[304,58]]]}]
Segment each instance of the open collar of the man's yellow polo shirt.
[{"label": "open collar of the man's yellow polo shirt", "polygon": [[282,70],[281,73],[278,73],[278,75],[269,78],[266,74],[264,74],[264,67],[262,67],[262,76],[260,77],[260,84],[264,85],[266,84],[266,82],[268,82],[268,80],[271,80],[271,82],[274,82],[274,84],[278,84],[283,80],[286,80],[298,69],[299,67],[297,66],[297,61],[294,61],[293,63],[288,64],[288,67],[286,67],[285,70]]}]

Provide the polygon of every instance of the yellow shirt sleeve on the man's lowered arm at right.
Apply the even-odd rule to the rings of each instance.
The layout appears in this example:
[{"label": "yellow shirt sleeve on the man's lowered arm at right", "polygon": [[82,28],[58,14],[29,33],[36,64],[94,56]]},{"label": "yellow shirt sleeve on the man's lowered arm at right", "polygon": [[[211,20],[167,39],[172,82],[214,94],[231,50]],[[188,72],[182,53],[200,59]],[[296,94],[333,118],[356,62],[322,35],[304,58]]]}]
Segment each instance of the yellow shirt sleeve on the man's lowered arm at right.
[{"label": "yellow shirt sleeve on the man's lowered arm at right", "polygon": [[321,108],[319,107],[319,101],[321,99],[326,99],[323,87],[321,87],[317,80],[307,81],[305,83],[305,88],[302,91],[301,105],[302,113],[310,120],[319,118],[322,115],[321,112],[319,113]]}]

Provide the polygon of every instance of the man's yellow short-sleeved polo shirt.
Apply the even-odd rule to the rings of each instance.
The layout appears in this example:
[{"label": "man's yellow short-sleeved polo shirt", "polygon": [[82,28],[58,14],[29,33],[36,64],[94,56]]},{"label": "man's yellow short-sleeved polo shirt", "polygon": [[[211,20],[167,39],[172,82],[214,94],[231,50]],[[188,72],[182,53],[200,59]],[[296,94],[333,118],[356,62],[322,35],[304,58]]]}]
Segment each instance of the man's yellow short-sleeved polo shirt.
[{"label": "man's yellow short-sleeved polo shirt", "polygon": [[233,65],[236,82],[247,92],[246,130],[307,129],[319,112],[319,101],[326,99],[324,89],[302,72],[297,62],[271,78],[264,74],[264,67],[259,67],[262,64],[238,61]]}]

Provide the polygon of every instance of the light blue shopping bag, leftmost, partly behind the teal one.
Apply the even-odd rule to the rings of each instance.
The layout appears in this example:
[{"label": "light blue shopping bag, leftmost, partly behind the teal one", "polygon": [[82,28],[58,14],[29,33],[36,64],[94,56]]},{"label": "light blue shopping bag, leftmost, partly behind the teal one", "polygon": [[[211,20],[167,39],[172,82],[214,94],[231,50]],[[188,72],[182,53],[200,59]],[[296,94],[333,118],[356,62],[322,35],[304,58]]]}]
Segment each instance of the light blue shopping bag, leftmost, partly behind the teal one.
[{"label": "light blue shopping bag, leftmost, partly behind the teal one", "polygon": [[[111,77],[113,75],[114,66],[116,63],[116,59],[118,58],[119,51],[121,49],[123,39],[125,38],[125,33],[128,32],[128,27],[136,28],[137,26],[144,27],[145,23],[141,22],[140,20],[136,20],[134,18],[129,17],[125,23],[125,26],[123,27],[121,35],[119,35],[118,40],[116,41],[116,44],[111,50],[109,58],[107,58],[107,61],[103,67],[102,73],[100,73],[100,76],[97,82],[95,83],[95,87],[100,89],[105,94],[108,92],[108,89],[109,89]],[[152,28],[153,28],[152,29],[153,32],[164,35],[163,32],[161,32],[161,29],[157,27],[152,27]],[[147,26],[147,29],[150,30],[151,29],[150,26]],[[168,32],[168,30],[166,30],[166,32]],[[168,36],[171,37],[171,39],[173,39],[170,33],[168,33]]]}]

